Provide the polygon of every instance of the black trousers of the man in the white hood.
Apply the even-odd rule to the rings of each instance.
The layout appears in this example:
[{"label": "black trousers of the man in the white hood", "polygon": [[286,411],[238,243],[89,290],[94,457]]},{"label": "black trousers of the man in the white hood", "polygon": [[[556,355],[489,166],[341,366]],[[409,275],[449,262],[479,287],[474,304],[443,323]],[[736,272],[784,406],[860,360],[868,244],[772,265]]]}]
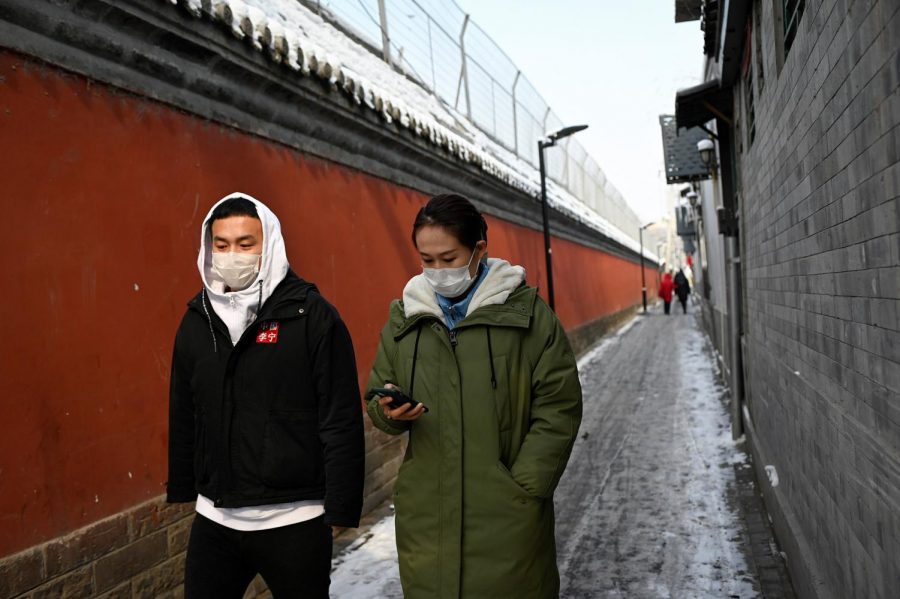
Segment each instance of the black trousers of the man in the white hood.
[{"label": "black trousers of the man in the white hood", "polygon": [[241,599],[257,574],[275,599],[328,599],[331,527],[324,520],[244,532],[197,514],[184,568],[185,599]]}]

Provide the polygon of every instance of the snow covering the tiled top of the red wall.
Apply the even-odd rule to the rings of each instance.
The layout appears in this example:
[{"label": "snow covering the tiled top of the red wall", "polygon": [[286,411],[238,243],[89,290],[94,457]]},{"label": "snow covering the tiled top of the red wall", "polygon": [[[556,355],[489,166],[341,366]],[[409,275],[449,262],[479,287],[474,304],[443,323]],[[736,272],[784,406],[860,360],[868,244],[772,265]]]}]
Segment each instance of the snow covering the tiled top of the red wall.
[{"label": "snow covering the tiled top of the red wall", "polygon": [[[507,185],[540,197],[540,178],[533,166],[297,0],[163,1],[180,3],[194,17],[222,23],[274,62],[298,75],[328,81],[333,89],[379,114],[386,125],[404,127]],[[635,239],[549,179],[547,200],[560,212],[639,252]],[[658,260],[646,248],[644,255]]]}]

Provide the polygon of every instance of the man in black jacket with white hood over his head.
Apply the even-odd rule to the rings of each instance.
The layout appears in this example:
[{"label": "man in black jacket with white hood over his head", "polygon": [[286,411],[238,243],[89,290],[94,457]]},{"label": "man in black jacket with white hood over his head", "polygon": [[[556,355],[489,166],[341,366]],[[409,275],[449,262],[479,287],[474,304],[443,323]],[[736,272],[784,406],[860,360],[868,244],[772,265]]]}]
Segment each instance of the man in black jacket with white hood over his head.
[{"label": "man in black jacket with white hood over his head", "polygon": [[185,597],[239,599],[261,574],[276,598],[327,598],[332,529],[362,509],[350,334],[250,196],[213,206],[197,265],[169,397],[167,498],[197,502]]}]

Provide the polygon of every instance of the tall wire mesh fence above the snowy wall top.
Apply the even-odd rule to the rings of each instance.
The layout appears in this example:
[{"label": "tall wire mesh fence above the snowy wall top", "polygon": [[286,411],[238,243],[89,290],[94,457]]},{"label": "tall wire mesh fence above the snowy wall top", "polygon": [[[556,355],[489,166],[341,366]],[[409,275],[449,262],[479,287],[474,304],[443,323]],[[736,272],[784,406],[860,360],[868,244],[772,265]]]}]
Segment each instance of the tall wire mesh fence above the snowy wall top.
[{"label": "tall wire mesh fence above the snowy wall top", "polygon": [[[449,0],[301,0],[538,168],[538,140],[564,123],[503,50]],[[571,123],[568,123],[571,124]],[[547,176],[629,237],[640,220],[574,137],[545,154]]]}]

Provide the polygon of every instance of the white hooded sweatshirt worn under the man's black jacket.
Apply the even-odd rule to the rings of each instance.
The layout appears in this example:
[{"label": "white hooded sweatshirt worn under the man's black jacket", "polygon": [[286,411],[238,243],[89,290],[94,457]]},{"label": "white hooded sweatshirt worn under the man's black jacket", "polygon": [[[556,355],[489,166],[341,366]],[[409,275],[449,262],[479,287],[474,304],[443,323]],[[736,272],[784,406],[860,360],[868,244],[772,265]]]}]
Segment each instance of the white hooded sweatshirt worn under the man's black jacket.
[{"label": "white hooded sweatshirt worn under the man's black jacket", "polygon": [[[256,212],[262,221],[263,251],[259,274],[253,283],[244,290],[226,292],[225,282],[212,269],[212,231],[208,223],[218,205],[232,198],[244,198],[256,206]],[[288,273],[287,252],[284,249],[284,238],[281,236],[281,223],[278,217],[254,197],[243,193],[225,196],[215,203],[203,220],[197,268],[203,279],[203,292],[213,310],[228,327],[231,343],[237,345],[244,331],[256,320],[260,307],[266,303]],[[217,508],[212,500],[198,495],[197,513],[234,530],[252,531],[312,520],[324,514],[325,507],[321,500],[308,500],[277,505]]]}]

